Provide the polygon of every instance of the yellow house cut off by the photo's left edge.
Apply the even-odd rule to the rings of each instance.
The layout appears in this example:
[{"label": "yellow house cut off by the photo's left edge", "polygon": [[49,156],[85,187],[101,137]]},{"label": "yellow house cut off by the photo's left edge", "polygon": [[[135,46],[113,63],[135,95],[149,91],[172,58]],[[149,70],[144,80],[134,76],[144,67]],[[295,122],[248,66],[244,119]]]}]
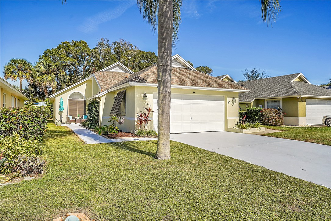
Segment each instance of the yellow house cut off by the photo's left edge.
[{"label": "yellow house cut off by the photo's left edge", "polygon": [[5,79],[0,77],[0,104],[1,107],[24,107],[24,101],[29,101],[22,92],[9,84]]}]

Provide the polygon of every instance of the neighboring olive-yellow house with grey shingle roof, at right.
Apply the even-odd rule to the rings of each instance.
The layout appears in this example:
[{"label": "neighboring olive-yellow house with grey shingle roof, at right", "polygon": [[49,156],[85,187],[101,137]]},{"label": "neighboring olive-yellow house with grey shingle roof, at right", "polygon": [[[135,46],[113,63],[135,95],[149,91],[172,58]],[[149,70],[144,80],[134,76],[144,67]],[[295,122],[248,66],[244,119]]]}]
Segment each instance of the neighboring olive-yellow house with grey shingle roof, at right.
[{"label": "neighboring olive-yellow house with grey shingle roof, at right", "polygon": [[282,109],[285,125],[321,124],[331,114],[331,90],[307,80],[302,73],[238,82],[250,90],[239,94],[239,106]]}]

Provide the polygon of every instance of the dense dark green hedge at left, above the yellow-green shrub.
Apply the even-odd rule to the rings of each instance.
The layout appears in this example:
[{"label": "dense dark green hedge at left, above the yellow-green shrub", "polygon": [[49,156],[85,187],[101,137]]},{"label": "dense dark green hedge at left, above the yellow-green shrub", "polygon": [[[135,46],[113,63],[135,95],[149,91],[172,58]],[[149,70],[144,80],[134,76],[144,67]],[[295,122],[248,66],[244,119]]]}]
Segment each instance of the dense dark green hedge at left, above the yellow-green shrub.
[{"label": "dense dark green hedge at left, above the yellow-green shrub", "polygon": [[0,139],[15,133],[25,139],[41,139],[46,128],[46,114],[39,108],[0,108]]}]

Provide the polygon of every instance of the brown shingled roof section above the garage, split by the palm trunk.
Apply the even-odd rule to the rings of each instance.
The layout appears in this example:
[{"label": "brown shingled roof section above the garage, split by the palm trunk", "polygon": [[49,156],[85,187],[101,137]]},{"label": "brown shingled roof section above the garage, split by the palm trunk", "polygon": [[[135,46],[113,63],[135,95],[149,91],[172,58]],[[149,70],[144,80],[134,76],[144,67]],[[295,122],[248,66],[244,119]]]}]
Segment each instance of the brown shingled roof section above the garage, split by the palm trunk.
[{"label": "brown shingled roof section above the garage, split by the palm trunk", "polygon": [[[246,88],[236,85],[235,83],[223,81],[199,71],[194,71],[181,67],[172,67],[171,69],[171,85],[247,90]],[[107,88],[107,90],[118,87],[128,82],[157,84],[157,78],[157,65],[152,65],[132,75],[129,75],[127,78],[124,78],[118,83],[113,84],[112,86]]]}]

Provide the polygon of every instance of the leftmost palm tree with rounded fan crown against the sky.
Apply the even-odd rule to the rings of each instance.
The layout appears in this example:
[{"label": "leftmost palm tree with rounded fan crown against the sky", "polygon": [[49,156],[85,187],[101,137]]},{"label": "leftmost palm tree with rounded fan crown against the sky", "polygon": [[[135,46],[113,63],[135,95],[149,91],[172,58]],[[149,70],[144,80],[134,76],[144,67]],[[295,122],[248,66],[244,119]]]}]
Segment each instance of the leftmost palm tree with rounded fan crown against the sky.
[{"label": "leftmost palm tree with rounded fan crown against the sky", "polygon": [[34,72],[33,66],[30,62],[23,58],[12,58],[5,66],[3,74],[5,79],[10,79],[12,81],[20,80],[20,91],[22,92],[22,81],[25,79],[27,81],[31,80],[32,74]]}]

